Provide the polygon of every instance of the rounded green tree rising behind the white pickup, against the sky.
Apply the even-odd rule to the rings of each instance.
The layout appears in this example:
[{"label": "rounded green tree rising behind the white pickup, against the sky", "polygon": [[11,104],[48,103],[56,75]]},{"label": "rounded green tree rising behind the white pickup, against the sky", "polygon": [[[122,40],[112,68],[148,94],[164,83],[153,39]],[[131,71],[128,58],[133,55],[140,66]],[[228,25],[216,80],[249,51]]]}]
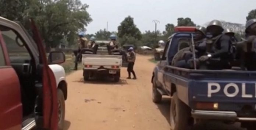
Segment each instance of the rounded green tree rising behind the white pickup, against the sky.
[{"label": "rounded green tree rising behind the white pickup, against the sky", "polygon": [[141,31],[134,24],[134,19],[131,16],[128,16],[121,22],[121,25],[118,26],[118,37],[134,37],[137,40],[141,40],[142,35]]}]

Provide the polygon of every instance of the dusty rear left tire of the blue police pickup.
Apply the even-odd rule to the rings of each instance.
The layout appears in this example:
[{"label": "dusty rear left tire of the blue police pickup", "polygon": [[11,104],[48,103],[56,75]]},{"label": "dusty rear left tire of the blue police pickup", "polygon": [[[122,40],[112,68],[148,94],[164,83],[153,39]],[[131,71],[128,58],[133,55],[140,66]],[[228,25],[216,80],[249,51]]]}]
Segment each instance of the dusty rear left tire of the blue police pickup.
[{"label": "dusty rear left tire of the blue police pickup", "polygon": [[[177,93],[173,94],[170,106],[170,127],[171,130],[188,130],[191,117],[190,108],[179,100]],[[176,118],[176,119],[175,119]]]}]

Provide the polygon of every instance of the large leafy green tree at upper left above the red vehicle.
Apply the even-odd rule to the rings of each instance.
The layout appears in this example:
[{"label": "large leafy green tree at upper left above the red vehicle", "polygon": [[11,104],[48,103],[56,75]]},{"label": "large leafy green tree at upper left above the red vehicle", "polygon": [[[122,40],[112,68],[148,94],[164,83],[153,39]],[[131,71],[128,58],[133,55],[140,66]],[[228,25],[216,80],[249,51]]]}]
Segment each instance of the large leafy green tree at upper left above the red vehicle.
[{"label": "large leafy green tree at upper left above the red vehicle", "polygon": [[[28,18],[33,18],[46,44],[46,50],[58,46],[65,40],[69,45],[76,43],[77,33],[85,31],[91,21],[87,4],[80,0],[1,0],[1,16],[21,21],[25,28]],[[4,4],[2,4],[4,3]],[[17,3],[17,4],[15,4]],[[6,11],[4,8],[15,11]]]}]

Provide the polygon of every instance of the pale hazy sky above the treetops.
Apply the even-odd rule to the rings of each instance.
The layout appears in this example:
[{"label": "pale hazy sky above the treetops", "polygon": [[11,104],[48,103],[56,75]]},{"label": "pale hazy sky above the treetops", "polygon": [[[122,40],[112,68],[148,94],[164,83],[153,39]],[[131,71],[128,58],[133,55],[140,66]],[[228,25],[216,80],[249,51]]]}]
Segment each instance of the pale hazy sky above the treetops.
[{"label": "pale hazy sky above the treetops", "polygon": [[213,19],[245,24],[249,11],[256,9],[256,0],[81,0],[88,4],[93,21],[86,33],[95,33],[107,28],[110,32],[130,15],[141,30],[154,30],[153,20],[160,23],[157,30],[164,31],[165,25],[177,25],[177,18],[189,17],[196,25]]}]

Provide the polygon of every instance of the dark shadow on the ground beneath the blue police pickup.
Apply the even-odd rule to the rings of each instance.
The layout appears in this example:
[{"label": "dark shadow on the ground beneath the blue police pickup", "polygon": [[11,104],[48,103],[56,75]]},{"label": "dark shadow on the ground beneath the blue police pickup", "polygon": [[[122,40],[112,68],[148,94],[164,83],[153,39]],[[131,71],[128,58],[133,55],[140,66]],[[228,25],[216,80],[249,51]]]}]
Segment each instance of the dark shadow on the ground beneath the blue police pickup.
[{"label": "dark shadow on the ground beneath the blue police pickup", "polygon": [[[170,123],[170,98],[163,97],[162,101],[157,104],[161,114]],[[191,130],[245,130],[239,127],[239,123],[235,124],[224,124],[221,122],[204,122],[198,123],[193,126]]]}]

